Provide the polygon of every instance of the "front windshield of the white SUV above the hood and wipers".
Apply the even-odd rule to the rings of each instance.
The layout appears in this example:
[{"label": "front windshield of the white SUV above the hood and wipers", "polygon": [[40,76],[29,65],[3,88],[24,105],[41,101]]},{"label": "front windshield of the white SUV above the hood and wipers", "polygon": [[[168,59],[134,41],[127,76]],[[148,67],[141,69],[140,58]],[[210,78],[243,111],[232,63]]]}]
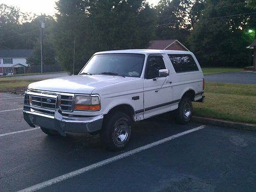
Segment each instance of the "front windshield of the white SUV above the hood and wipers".
[{"label": "front windshield of the white SUV above the hood and wipers", "polygon": [[143,54],[94,55],[80,74],[140,77],[144,59],[145,55]]}]

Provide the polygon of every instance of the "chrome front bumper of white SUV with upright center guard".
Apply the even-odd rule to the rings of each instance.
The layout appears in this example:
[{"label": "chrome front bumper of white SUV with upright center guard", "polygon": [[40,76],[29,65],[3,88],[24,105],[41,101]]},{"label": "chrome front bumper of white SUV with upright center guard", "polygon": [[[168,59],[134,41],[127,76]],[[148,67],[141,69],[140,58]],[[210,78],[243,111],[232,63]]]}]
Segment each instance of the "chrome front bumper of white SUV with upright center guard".
[{"label": "chrome front bumper of white SUV with upright center guard", "polygon": [[25,121],[32,127],[38,125],[50,130],[56,130],[60,135],[65,132],[91,133],[101,129],[103,114],[98,116],[68,116],[62,115],[60,95],[56,95],[56,107],[54,114],[46,114],[35,111],[29,105],[24,105],[23,115]]}]

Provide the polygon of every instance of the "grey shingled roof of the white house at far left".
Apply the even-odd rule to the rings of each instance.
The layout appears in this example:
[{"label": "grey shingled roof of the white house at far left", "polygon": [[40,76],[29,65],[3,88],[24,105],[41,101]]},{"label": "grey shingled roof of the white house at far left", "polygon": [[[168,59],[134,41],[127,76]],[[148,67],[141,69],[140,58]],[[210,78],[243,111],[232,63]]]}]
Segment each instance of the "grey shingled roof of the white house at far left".
[{"label": "grey shingled roof of the white house at far left", "polygon": [[32,54],[32,49],[0,49],[1,58],[28,58]]}]

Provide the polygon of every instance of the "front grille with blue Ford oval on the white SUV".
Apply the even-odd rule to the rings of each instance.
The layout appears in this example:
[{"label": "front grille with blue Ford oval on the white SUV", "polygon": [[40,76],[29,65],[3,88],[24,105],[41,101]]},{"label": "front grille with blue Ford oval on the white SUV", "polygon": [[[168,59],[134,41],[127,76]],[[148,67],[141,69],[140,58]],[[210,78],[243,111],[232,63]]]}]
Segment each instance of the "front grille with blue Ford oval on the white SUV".
[{"label": "front grille with blue Ford oval on the white SUV", "polygon": [[[35,91],[36,93],[42,93],[44,94],[45,92],[39,92]],[[61,95],[61,93],[52,93],[52,92],[47,92],[46,94],[49,95]],[[31,95],[31,104],[32,107],[34,106],[36,110],[46,110],[46,111],[52,111],[55,110],[56,107],[56,99],[52,97],[47,97],[47,96],[41,96],[41,95],[33,95],[33,92],[30,93]],[[25,101],[28,102],[28,98],[25,95]],[[73,95],[68,95],[63,93],[61,95],[61,111],[66,111],[66,112],[72,112],[73,111]]]}]

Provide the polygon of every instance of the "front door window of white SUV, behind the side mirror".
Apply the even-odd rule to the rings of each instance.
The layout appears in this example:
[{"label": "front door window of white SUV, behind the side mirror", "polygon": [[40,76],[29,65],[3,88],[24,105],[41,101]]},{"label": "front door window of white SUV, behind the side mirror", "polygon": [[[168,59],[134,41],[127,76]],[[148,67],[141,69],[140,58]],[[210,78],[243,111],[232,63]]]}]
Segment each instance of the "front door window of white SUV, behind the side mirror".
[{"label": "front door window of white SUV, behind the side mirror", "polygon": [[163,57],[161,55],[150,55],[147,57],[146,79],[159,77],[159,70],[165,69]]}]

